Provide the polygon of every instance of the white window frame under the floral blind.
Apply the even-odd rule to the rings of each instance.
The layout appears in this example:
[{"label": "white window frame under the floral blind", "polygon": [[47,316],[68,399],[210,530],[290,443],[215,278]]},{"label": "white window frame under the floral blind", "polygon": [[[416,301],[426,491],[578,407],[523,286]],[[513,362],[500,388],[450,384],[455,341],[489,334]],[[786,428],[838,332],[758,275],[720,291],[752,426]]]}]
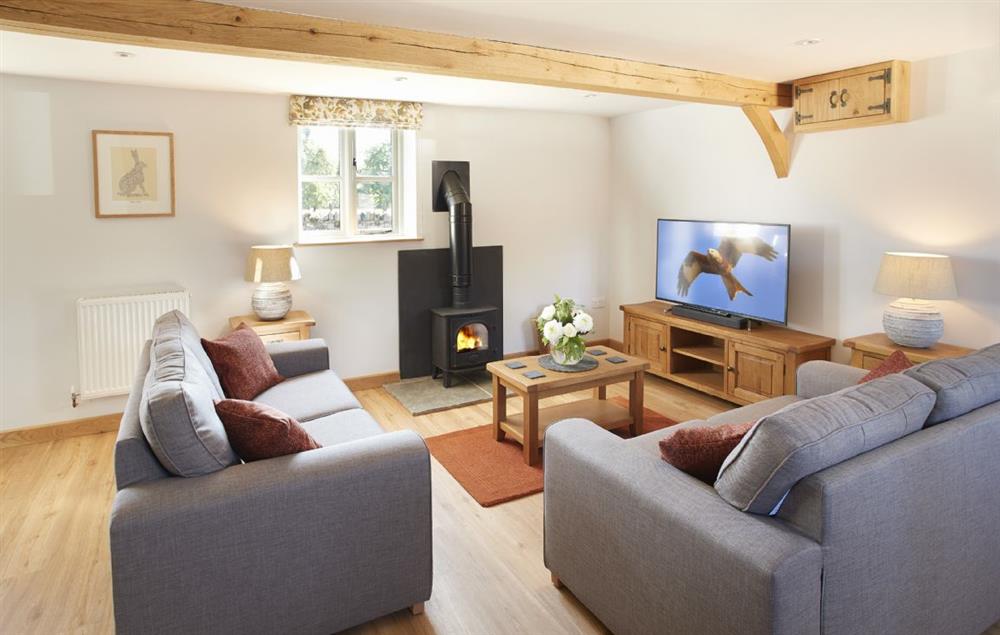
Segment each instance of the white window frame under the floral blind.
[{"label": "white window frame under the floral blind", "polygon": [[[318,126],[313,126],[318,127]],[[375,127],[375,126],[373,126]],[[392,139],[392,174],[384,176],[361,176],[356,165],[356,128],[338,128],[338,143],[340,146],[340,174],[337,176],[307,176],[302,174],[302,132],[296,129],[295,171],[297,174],[298,191],[296,193],[296,223],[298,225],[299,243],[331,243],[331,242],[374,242],[378,240],[396,240],[405,236],[403,228],[407,225],[404,216],[410,213],[406,208],[407,198],[404,195],[404,175],[407,173],[404,155],[409,146],[404,142],[404,132],[390,129]],[[304,182],[340,182],[340,229],[308,230],[302,226],[302,184]],[[358,231],[357,186],[366,182],[392,183],[392,230],[385,233],[361,233]]]}]

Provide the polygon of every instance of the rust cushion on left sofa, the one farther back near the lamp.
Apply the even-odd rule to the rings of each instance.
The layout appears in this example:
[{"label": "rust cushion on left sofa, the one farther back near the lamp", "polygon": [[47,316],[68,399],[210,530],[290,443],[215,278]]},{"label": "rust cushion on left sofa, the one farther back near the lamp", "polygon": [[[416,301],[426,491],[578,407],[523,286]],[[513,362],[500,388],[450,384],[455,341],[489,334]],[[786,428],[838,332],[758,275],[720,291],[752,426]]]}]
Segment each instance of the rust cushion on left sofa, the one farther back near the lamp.
[{"label": "rust cushion on left sofa, the one farther back near the lamp", "polygon": [[202,339],[201,345],[230,399],[249,401],[285,379],[278,374],[260,336],[246,324],[215,341]]}]

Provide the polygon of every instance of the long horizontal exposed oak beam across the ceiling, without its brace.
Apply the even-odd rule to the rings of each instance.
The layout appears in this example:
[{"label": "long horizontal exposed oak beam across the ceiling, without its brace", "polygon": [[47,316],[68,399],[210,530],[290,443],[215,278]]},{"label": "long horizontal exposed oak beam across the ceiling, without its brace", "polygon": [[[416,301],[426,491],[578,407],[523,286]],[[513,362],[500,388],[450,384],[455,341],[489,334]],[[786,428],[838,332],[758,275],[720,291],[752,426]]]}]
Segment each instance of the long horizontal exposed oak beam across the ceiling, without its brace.
[{"label": "long horizontal exposed oak beam across the ceiling, without its brace", "polygon": [[195,0],[0,0],[0,28],[680,101],[792,105],[787,84]]}]

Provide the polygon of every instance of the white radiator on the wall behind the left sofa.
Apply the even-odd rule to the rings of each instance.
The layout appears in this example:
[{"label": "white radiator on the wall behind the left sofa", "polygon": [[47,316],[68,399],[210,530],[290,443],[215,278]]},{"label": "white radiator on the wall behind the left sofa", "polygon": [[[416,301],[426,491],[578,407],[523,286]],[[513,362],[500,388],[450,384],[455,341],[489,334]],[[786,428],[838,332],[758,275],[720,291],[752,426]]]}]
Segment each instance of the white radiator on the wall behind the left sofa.
[{"label": "white radiator on the wall behind the left sofa", "polygon": [[74,405],[77,398],[128,394],[156,318],[174,309],[186,315],[189,304],[187,291],[77,300],[80,388],[74,392]]}]

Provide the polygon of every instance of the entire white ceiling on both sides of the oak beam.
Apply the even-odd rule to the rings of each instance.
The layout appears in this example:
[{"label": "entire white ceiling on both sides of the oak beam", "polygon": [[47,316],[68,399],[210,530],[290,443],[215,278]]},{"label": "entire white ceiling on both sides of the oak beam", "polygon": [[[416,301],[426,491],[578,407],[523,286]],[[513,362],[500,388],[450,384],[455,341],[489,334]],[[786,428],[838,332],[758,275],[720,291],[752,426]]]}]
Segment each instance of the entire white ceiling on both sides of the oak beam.
[{"label": "entire white ceiling on both sides of the oak beam", "polygon": [[[1000,44],[1000,2],[223,0],[787,81]],[[794,42],[819,38],[815,46]],[[116,51],[135,53],[122,59]],[[192,72],[196,69],[197,72]],[[0,32],[0,72],[257,93],[615,116],[671,102],[463,78]],[[406,81],[396,81],[406,77]]]}]

